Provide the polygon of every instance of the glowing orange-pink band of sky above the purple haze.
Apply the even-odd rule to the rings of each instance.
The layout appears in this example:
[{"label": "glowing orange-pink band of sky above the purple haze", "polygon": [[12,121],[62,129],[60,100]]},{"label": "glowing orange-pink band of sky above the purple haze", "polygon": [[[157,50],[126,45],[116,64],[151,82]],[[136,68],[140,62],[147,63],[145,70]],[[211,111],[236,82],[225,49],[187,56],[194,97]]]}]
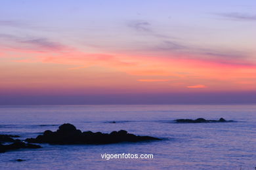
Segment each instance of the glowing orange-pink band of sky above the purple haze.
[{"label": "glowing orange-pink band of sky above the purple haze", "polygon": [[[1,89],[72,93],[256,90],[256,66],[193,59],[186,54],[133,56],[78,50],[2,50]],[[177,56],[175,56],[177,55]],[[190,59],[192,58],[192,59]],[[68,92],[67,91],[67,92]],[[61,93],[61,92],[59,92]]]}]

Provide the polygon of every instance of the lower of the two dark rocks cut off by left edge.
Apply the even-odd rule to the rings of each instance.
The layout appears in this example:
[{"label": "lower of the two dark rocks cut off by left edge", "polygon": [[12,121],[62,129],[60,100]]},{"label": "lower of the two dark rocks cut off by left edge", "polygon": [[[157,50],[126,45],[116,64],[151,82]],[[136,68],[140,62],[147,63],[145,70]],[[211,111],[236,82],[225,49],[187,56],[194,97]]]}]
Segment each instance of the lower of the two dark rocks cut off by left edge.
[{"label": "lower of the two dark rocks cut off by left edge", "polygon": [[37,144],[29,144],[24,142],[14,142],[12,144],[0,144],[0,153],[7,152],[9,150],[17,150],[20,148],[41,148],[41,146]]}]

